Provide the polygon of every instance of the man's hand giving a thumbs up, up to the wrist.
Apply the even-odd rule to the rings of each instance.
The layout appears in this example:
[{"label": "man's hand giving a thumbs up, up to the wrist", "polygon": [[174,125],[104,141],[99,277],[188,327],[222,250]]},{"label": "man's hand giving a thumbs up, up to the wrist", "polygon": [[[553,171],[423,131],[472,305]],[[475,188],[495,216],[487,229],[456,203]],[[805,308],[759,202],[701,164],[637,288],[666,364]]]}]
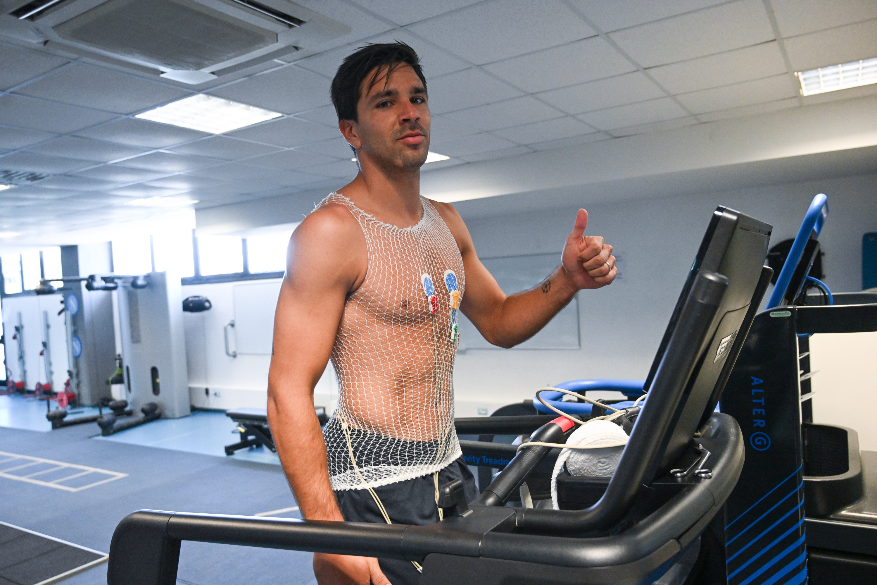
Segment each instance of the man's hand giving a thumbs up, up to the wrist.
[{"label": "man's hand giving a thumbs up, up to the wrist", "polygon": [[600,289],[615,280],[618,270],[612,246],[604,243],[602,236],[584,235],[587,227],[588,211],[579,210],[563,247],[563,268],[576,288]]}]

